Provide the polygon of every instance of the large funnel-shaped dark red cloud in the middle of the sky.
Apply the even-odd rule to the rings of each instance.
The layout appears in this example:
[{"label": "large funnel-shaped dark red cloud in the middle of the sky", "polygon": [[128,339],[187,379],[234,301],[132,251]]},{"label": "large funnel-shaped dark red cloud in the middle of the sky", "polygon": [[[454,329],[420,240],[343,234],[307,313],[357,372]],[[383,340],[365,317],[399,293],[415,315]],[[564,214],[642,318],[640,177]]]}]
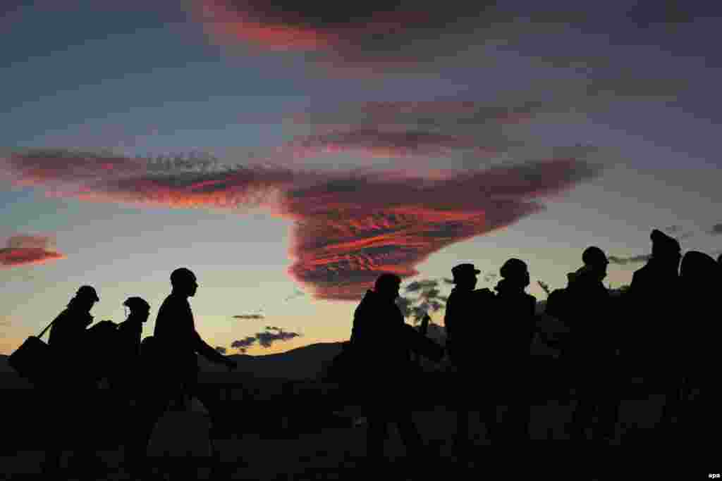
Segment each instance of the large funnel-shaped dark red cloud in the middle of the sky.
[{"label": "large funnel-shaped dark red cloud in the middle of the sky", "polygon": [[[530,175],[534,172],[534,175]],[[525,200],[592,177],[574,159],[458,174],[419,187],[349,177],[288,193],[297,221],[289,273],[317,299],[357,300],[383,272],[401,278],[443,247],[513,224],[542,206]]]}]

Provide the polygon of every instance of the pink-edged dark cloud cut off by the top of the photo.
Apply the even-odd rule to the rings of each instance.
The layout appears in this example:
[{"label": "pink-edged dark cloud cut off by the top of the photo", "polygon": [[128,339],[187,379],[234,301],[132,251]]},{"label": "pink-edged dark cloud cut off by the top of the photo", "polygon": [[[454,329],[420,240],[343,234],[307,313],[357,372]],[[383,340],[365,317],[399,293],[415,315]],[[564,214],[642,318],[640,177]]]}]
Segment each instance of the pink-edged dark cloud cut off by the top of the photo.
[{"label": "pink-edged dark cloud cut off by the top of the photo", "polygon": [[[479,25],[493,1],[193,0],[191,14],[211,39],[263,50],[323,51],[346,63],[413,62],[414,55],[390,52],[413,40],[463,32]],[[466,27],[466,30],[469,30]],[[430,36],[431,35],[431,36]],[[418,53],[418,52],[417,52]],[[427,51],[428,53],[428,51]]]}]

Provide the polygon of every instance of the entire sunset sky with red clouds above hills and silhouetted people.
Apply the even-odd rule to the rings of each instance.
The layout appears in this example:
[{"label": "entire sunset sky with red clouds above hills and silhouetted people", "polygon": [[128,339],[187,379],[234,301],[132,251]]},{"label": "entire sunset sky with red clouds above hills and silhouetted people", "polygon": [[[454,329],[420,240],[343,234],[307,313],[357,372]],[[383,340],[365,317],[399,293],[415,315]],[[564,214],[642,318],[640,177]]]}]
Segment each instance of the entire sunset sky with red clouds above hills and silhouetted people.
[{"label": "entire sunset sky with red clouds above hills and silhouetted people", "polygon": [[264,354],[347,339],[381,272],[440,323],[460,262],[493,288],[526,260],[544,299],[592,244],[629,283],[653,228],[716,256],[721,19],[699,0],[3,1],[0,353],[86,283],[96,320],[144,297],[152,334],[181,266],[201,336]]}]

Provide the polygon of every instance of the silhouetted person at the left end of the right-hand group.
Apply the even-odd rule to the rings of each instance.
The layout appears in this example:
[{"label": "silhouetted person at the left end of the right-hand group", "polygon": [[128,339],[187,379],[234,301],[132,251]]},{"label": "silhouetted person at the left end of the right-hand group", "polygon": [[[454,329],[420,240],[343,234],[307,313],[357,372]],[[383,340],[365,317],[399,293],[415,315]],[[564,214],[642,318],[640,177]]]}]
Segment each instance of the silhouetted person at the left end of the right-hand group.
[{"label": "silhouetted person at the left end of the right-hand group", "polygon": [[372,464],[383,461],[383,441],[389,423],[396,423],[407,454],[422,456],[422,439],[404,396],[411,370],[409,337],[404,315],[396,305],[401,278],[382,274],[354,312],[350,348],[362,360],[357,392],[367,408],[367,455]]}]

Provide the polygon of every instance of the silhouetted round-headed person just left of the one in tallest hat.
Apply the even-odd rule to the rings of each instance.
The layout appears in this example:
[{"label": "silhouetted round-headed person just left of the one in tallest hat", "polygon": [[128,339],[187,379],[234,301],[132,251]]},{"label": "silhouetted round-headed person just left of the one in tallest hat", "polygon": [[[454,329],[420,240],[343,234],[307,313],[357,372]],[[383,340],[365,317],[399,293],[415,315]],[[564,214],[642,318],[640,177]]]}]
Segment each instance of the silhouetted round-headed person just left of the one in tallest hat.
[{"label": "silhouetted round-headed person just left of the one in tallest hat", "polygon": [[570,332],[562,356],[567,373],[577,392],[577,407],[572,420],[572,437],[586,439],[594,413],[596,441],[614,437],[619,402],[614,389],[617,330],[612,298],[602,281],[609,265],[599,247],[588,247],[582,254],[583,267],[570,273],[565,292],[562,322]]}]

